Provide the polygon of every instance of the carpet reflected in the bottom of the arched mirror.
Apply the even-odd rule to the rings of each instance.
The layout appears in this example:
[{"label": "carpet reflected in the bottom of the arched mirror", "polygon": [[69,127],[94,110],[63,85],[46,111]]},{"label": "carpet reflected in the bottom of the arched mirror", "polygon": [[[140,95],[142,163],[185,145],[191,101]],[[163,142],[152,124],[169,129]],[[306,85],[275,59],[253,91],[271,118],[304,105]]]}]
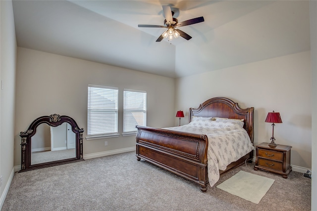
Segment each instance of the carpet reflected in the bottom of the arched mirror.
[{"label": "carpet reflected in the bottom of the arched mirror", "polygon": [[32,153],[31,164],[40,164],[76,157],[76,149]]}]

